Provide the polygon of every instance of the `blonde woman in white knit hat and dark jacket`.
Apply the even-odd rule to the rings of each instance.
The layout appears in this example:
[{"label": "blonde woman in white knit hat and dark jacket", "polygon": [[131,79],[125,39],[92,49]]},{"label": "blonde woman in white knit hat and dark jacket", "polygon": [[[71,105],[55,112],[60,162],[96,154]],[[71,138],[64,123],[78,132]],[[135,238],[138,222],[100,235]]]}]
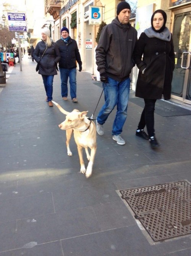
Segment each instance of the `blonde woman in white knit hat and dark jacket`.
[{"label": "blonde woman in white knit hat and dark jacket", "polygon": [[47,95],[46,101],[49,102],[49,107],[53,107],[53,78],[54,75],[57,75],[57,63],[60,60],[60,52],[57,44],[53,43],[50,38],[49,28],[44,28],[42,30],[42,41],[37,43],[33,58],[39,63],[39,74],[42,75]]}]

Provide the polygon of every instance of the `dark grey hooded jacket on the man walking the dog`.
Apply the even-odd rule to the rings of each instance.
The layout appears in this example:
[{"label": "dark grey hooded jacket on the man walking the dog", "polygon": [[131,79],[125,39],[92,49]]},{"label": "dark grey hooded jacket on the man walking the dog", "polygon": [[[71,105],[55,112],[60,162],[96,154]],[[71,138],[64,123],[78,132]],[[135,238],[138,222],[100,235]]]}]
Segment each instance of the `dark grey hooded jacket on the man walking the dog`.
[{"label": "dark grey hooded jacket on the man walking the dog", "polygon": [[137,41],[137,31],[130,23],[123,25],[115,18],[104,26],[95,50],[97,70],[116,80],[124,81],[135,65],[133,50]]}]

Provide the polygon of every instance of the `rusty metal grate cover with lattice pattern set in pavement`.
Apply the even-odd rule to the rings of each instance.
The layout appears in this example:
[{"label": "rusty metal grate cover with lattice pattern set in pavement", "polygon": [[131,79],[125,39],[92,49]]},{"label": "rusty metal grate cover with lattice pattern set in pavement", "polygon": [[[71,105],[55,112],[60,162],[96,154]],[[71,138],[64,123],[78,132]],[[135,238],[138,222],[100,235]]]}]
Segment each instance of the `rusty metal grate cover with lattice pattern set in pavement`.
[{"label": "rusty metal grate cover with lattice pattern set in pavement", "polygon": [[120,190],[154,241],[191,233],[191,183],[186,180]]}]

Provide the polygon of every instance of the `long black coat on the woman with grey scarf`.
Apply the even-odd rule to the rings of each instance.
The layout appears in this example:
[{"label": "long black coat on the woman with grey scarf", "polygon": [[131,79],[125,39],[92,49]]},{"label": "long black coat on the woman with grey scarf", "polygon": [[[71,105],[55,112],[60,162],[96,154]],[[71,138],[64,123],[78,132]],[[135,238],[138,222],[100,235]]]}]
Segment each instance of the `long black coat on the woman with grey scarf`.
[{"label": "long black coat on the woman with grey scarf", "polygon": [[[142,56],[143,55],[143,56]],[[141,33],[135,49],[134,61],[139,68],[135,96],[144,99],[170,99],[175,53],[173,40],[149,38]],[[145,69],[144,74],[142,70]]]}]

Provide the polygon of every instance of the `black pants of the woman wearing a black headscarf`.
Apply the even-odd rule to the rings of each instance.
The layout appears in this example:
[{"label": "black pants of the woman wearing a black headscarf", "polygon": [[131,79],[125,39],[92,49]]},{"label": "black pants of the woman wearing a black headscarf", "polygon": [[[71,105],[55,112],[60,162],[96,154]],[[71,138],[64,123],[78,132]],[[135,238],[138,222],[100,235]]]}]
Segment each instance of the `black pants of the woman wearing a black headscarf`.
[{"label": "black pants of the woman wearing a black headscarf", "polygon": [[144,109],[141,114],[141,119],[139,121],[138,129],[144,129],[144,127],[147,127],[147,132],[149,137],[152,137],[155,135],[154,130],[154,110],[155,110],[155,102],[156,99],[144,99]]}]

